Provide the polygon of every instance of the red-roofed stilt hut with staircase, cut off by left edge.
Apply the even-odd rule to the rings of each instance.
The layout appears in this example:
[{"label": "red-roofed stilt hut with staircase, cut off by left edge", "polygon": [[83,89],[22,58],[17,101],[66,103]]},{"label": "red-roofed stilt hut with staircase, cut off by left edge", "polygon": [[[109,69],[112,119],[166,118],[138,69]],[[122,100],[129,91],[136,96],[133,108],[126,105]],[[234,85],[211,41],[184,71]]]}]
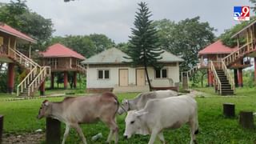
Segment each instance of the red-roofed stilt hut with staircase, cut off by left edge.
[{"label": "red-roofed stilt hut with staircase, cut off by left edge", "polygon": [[39,86],[41,94],[44,94],[44,82],[45,78],[50,75],[50,67],[39,66],[30,59],[30,46],[28,46],[28,50],[24,50],[27,54],[22,54],[17,50],[17,44],[30,45],[31,43],[36,43],[36,41],[0,22],[0,62],[8,63],[7,87],[9,93],[14,92],[14,66],[18,65],[29,73],[18,84],[17,95],[31,96],[38,90]]}]

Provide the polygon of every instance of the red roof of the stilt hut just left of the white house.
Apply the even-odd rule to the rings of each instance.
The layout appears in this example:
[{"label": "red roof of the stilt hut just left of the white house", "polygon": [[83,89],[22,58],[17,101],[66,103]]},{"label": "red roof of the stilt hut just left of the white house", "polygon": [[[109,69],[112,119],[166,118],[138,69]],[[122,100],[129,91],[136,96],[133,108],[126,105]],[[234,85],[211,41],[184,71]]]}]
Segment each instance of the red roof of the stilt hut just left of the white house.
[{"label": "red roof of the stilt hut just left of the white house", "polygon": [[63,46],[60,43],[56,43],[52,46],[49,46],[45,52],[41,52],[43,58],[63,58],[63,57],[73,57],[79,59],[86,59],[81,54],[78,54],[74,50]]}]

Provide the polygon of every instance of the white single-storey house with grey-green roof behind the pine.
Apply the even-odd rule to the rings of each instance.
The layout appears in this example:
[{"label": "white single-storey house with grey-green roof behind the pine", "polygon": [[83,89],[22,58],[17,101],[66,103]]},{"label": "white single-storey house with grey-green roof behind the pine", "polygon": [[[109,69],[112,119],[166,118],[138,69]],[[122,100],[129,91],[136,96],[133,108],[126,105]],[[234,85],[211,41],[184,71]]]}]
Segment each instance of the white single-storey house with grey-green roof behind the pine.
[{"label": "white single-storey house with grey-green roof behind the pine", "polygon": [[[174,54],[167,51],[161,54],[159,63],[163,64],[162,70],[154,70],[148,67],[150,82],[154,88],[175,89],[179,82],[179,63],[183,62]],[[87,92],[102,92],[114,90],[114,92],[141,92],[148,91],[145,70],[142,66],[130,67],[127,54],[116,48],[111,48],[96,54],[82,64],[87,67],[86,86]]]}]

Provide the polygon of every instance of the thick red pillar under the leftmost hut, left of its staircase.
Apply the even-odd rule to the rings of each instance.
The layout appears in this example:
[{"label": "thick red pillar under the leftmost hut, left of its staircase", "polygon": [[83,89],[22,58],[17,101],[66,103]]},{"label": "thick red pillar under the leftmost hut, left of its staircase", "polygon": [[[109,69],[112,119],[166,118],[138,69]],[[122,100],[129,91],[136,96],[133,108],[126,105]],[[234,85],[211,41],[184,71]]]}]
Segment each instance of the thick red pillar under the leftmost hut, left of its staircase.
[{"label": "thick red pillar under the leftmost hut, left of its staircase", "polygon": [[8,63],[8,92],[14,92],[14,63]]}]

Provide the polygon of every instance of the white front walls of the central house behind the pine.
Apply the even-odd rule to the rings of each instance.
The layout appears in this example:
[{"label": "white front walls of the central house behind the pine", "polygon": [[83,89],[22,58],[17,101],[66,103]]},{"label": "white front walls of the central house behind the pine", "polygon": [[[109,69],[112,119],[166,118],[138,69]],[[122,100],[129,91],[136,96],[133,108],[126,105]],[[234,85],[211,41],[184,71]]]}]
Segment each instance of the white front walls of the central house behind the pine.
[{"label": "white front walls of the central house behind the pine", "polygon": [[[149,77],[152,86],[174,86],[179,82],[179,66],[178,62],[169,66],[164,66],[167,69],[167,78],[155,78],[155,70],[153,67],[148,68]],[[87,88],[110,88],[119,85],[119,70],[128,70],[128,85],[136,86],[136,69],[143,69],[143,67],[131,68],[128,66],[87,66]],[[98,79],[98,70],[110,70],[109,79]],[[146,76],[145,76],[146,80]],[[146,82],[147,84],[147,82]]]}]

